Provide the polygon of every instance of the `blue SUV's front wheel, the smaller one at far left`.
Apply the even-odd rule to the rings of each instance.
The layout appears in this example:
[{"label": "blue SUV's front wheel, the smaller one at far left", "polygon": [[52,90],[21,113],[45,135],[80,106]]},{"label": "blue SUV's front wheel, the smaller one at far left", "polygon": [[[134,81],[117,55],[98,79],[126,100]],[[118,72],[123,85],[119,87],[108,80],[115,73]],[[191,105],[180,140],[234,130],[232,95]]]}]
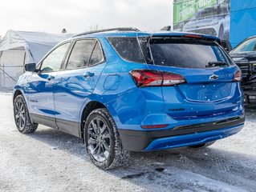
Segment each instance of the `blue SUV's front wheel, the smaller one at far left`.
[{"label": "blue SUV's front wheel, the smaller one at far left", "polygon": [[22,94],[14,99],[14,121],[18,131],[22,134],[34,133],[39,126],[39,124],[31,122],[26,101]]}]

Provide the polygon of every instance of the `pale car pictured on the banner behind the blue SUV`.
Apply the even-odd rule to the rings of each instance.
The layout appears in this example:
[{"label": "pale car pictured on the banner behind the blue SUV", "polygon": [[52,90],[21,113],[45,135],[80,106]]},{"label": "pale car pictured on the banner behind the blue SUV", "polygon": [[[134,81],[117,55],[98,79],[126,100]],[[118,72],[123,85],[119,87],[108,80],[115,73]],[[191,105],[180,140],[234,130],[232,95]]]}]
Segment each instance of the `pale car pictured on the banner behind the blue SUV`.
[{"label": "pale car pictured on the banner behind the blue SUV", "polygon": [[183,31],[210,34],[223,39],[230,33],[229,15],[228,6],[211,6],[198,10],[190,21],[185,23]]}]

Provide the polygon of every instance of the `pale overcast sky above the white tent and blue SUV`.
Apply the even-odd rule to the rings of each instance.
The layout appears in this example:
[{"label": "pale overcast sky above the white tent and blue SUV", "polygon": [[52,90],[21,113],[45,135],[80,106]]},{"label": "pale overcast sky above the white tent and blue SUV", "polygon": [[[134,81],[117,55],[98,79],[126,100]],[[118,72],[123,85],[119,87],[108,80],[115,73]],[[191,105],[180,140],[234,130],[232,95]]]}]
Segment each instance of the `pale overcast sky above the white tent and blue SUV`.
[{"label": "pale overcast sky above the white tent and blue SUV", "polygon": [[9,29],[79,33],[96,25],[159,30],[172,22],[173,0],[6,0],[1,2],[0,35]]}]

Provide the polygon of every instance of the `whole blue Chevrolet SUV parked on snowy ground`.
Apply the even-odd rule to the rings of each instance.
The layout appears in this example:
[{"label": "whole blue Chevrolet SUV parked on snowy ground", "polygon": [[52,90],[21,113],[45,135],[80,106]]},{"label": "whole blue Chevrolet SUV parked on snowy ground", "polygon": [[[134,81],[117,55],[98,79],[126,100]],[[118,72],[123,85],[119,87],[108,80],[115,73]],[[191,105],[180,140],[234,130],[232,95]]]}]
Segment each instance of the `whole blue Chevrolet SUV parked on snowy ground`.
[{"label": "whole blue Chevrolet SUV parked on snowy ground", "polygon": [[134,28],[75,35],[26,64],[14,87],[16,126],[82,138],[101,169],[129,151],[209,146],[245,121],[242,74],[220,43]]}]

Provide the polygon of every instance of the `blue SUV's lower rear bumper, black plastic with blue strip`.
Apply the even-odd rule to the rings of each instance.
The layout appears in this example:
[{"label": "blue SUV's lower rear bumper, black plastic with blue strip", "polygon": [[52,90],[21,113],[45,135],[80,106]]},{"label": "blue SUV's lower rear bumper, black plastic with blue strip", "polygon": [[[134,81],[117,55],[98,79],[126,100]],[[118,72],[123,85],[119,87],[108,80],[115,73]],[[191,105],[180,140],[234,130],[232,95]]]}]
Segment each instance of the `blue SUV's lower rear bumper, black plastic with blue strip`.
[{"label": "blue SUV's lower rear bumper, black plastic with blue strip", "polygon": [[226,138],[242,130],[244,116],[192,126],[177,126],[169,130],[119,130],[124,150],[150,151],[192,146]]}]

